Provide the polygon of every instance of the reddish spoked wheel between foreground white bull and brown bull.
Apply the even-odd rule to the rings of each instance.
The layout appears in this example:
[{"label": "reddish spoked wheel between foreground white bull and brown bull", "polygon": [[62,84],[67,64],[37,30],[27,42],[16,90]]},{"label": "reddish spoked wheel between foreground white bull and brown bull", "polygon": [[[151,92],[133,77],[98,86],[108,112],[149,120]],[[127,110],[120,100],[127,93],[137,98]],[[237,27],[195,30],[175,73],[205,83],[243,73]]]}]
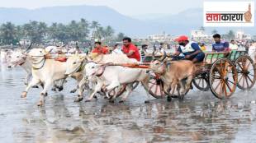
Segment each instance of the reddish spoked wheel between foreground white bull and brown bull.
[{"label": "reddish spoked wheel between foreground white bull and brown bull", "polygon": [[149,77],[149,94],[156,99],[163,99],[165,97],[164,82],[154,73]]}]

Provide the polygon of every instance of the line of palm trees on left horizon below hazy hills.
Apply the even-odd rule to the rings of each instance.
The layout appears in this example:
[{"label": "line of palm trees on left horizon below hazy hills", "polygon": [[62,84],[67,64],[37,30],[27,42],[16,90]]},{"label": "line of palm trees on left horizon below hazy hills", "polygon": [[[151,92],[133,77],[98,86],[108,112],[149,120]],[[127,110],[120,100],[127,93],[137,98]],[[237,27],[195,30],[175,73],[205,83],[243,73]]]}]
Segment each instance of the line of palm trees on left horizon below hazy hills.
[{"label": "line of palm trees on left horizon below hazy hills", "polygon": [[6,22],[0,25],[0,44],[16,45],[21,39],[28,39],[33,44],[48,44],[50,42],[65,44],[71,41],[87,42],[94,39],[105,42],[116,40],[121,41],[125,34],[118,33],[111,25],[103,27],[97,21],[70,21],[69,24],[52,23],[47,25],[41,21],[29,21],[24,25],[15,25]]}]

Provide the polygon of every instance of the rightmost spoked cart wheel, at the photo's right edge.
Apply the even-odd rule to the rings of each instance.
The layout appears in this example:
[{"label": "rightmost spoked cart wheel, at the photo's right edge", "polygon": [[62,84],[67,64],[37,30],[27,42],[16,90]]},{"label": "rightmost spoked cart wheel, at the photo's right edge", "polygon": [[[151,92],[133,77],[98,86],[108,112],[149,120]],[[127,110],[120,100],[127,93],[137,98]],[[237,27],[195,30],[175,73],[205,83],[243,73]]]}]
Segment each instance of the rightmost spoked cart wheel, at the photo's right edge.
[{"label": "rightmost spoked cart wheel, at the photo's right edge", "polygon": [[251,89],[256,81],[256,68],[252,58],[249,56],[240,56],[235,61],[235,66],[238,72],[237,87],[241,90]]}]

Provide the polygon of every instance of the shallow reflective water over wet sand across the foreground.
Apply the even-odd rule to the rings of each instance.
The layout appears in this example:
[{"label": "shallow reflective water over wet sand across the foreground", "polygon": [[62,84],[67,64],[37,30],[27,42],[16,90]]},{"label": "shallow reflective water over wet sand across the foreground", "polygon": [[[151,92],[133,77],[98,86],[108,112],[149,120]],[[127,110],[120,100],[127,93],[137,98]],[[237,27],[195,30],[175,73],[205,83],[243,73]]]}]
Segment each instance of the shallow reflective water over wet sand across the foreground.
[{"label": "shallow reflective water over wet sand across the foreground", "polygon": [[124,104],[99,97],[90,103],[73,103],[75,86],[46,97],[36,106],[40,89],[26,99],[25,72],[0,71],[1,142],[255,142],[256,89],[237,90],[231,99],[216,99],[211,92],[190,91],[183,101],[151,99],[139,86]]}]

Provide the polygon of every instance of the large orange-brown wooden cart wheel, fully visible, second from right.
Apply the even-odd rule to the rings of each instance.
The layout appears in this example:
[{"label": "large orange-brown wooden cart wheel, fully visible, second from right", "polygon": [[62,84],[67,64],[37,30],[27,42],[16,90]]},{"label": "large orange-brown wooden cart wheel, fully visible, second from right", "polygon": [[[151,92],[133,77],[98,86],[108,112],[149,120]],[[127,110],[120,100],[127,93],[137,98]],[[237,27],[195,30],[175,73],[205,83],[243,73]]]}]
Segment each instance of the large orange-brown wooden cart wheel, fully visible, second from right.
[{"label": "large orange-brown wooden cart wheel, fully visible, second from right", "polygon": [[219,99],[228,99],[235,92],[237,71],[233,62],[220,58],[211,66],[209,85],[213,95]]}]

